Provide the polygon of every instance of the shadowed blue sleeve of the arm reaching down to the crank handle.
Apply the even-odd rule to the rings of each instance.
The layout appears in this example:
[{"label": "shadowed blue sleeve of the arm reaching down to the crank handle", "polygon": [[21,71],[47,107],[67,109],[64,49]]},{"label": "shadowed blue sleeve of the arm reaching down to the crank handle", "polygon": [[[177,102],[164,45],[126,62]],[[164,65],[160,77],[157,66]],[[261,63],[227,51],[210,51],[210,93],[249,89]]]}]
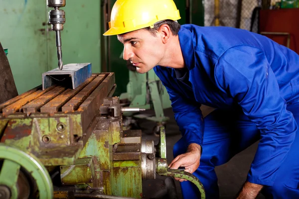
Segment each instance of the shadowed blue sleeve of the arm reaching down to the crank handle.
[{"label": "shadowed blue sleeve of the arm reaching down to the crank handle", "polygon": [[184,96],[175,91],[175,82],[170,83],[172,79],[171,74],[167,68],[154,67],[156,75],[165,86],[169,99],[171,100],[174,118],[182,133],[182,138],[188,146],[191,143],[199,144],[202,146],[203,140],[203,117],[200,110],[200,104],[192,104],[187,101]]}]

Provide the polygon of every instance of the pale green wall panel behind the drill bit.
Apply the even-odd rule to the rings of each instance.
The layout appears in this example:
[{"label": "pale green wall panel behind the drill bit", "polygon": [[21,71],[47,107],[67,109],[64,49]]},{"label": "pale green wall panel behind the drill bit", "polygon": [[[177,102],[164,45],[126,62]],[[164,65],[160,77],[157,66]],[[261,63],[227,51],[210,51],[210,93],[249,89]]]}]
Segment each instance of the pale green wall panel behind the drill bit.
[{"label": "pale green wall panel behind the drill bit", "polygon": [[[63,64],[101,64],[101,1],[67,0],[66,23],[61,32]],[[55,33],[48,25],[46,0],[0,0],[0,42],[18,94],[41,85],[41,74],[57,68]]]}]

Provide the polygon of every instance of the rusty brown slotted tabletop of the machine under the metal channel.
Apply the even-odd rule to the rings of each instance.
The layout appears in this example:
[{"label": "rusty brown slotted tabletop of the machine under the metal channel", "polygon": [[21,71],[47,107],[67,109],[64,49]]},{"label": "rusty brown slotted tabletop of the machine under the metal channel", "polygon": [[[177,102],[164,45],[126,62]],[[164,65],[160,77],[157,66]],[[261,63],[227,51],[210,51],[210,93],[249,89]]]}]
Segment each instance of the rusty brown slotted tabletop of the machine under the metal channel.
[{"label": "rusty brown slotted tabletop of the machine under the metal channel", "polygon": [[[70,90],[63,86],[52,86],[44,91],[41,86],[36,87],[20,96],[0,104],[1,117],[9,117],[19,112],[29,116],[31,113],[42,112],[53,115],[57,112],[82,112],[87,109],[98,109],[108,94],[112,93],[115,85],[114,73],[93,74],[77,89]],[[100,101],[97,101],[100,100]],[[90,112],[83,117],[95,116],[97,112]],[[91,119],[86,119],[91,122]],[[85,128],[86,130],[86,128]]]}]

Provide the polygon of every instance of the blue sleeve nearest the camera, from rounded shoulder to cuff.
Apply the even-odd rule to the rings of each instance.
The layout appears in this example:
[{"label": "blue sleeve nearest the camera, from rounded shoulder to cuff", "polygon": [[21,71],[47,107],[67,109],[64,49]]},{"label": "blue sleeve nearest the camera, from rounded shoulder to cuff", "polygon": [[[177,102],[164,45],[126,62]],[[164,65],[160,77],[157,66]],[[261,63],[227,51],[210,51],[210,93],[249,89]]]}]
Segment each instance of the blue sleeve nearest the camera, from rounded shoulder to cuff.
[{"label": "blue sleeve nearest the camera, from rounded shoulder to cuff", "polygon": [[297,123],[264,52],[250,46],[227,50],[215,68],[216,83],[238,101],[261,131],[247,181],[272,186],[295,139]]}]

